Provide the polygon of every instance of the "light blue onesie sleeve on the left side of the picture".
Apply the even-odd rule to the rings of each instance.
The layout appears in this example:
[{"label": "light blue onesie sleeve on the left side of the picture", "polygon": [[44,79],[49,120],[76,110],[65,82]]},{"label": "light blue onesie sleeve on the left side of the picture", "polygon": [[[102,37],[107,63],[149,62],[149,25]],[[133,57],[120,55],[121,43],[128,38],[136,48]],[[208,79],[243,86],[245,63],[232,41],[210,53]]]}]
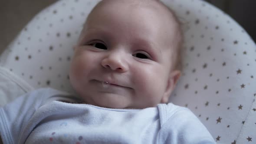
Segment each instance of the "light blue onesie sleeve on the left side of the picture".
[{"label": "light blue onesie sleeve on the left side of the picture", "polygon": [[0,134],[3,144],[19,144],[22,139],[26,140],[27,137],[23,136],[33,114],[50,100],[53,101],[56,93],[58,91],[51,88],[41,88],[0,108]]}]

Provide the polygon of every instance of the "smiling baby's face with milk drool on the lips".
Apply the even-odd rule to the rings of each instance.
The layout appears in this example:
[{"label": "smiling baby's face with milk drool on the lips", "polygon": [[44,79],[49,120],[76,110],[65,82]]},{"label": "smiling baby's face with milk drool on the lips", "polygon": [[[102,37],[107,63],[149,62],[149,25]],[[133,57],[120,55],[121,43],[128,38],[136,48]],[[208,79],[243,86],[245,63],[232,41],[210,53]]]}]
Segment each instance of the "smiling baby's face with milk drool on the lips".
[{"label": "smiling baby's face with milk drool on the lips", "polygon": [[168,101],[180,73],[171,71],[173,22],[162,14],[120,0],[90,14],[69,73],[85,103],[148,108]]}]

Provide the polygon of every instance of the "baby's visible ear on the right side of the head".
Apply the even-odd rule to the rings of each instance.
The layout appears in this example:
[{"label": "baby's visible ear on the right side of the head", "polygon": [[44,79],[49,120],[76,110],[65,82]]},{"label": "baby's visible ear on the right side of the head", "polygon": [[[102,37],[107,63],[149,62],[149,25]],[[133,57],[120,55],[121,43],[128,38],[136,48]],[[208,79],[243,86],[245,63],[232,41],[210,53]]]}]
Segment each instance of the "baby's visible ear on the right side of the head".
[{"label": "baby's visible ear on the right side of the head", "polygon": [[170,73],[168,81],[167,81],[167,87],[166,87],[164,95],[161,99],[161,103],[168,102],[169,97],[171,96],[171,92],[174,90],[180,76],[181,76],[180,70],[174,70]]}]

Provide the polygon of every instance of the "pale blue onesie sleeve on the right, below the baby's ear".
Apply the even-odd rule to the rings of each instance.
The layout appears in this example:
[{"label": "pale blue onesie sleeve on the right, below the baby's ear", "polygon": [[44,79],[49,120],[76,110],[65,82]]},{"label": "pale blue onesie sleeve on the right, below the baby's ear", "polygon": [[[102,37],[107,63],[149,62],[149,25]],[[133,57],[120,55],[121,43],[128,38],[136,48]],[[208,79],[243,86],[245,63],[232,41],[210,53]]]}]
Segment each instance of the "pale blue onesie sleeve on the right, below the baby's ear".
[{"label": "pale blue onesie sleeve on the right, below the baby's ear", "polygon": [[189,109],[178,107],[171,114],[161,127],[159,144],[216,144],[207,128]]}]

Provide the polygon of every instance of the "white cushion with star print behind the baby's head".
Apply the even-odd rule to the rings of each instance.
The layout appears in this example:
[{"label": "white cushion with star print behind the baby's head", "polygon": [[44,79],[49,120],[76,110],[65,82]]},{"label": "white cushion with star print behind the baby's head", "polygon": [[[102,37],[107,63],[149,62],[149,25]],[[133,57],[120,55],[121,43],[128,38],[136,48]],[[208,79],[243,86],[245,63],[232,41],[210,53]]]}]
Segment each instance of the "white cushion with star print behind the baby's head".
[{"label": "white cushion with star print behind the baby's head", "polygon": [[[98,0],[59,0],[37,14],[0,56],[33,88],[73,92],[68,69]],[[170,101],[191,109],[217,143],[256,143],[256,45],[230,16],[201,0],[163,0],[183,23],[183,74]],[[156,75],[157,76],[157,75]]]}]

